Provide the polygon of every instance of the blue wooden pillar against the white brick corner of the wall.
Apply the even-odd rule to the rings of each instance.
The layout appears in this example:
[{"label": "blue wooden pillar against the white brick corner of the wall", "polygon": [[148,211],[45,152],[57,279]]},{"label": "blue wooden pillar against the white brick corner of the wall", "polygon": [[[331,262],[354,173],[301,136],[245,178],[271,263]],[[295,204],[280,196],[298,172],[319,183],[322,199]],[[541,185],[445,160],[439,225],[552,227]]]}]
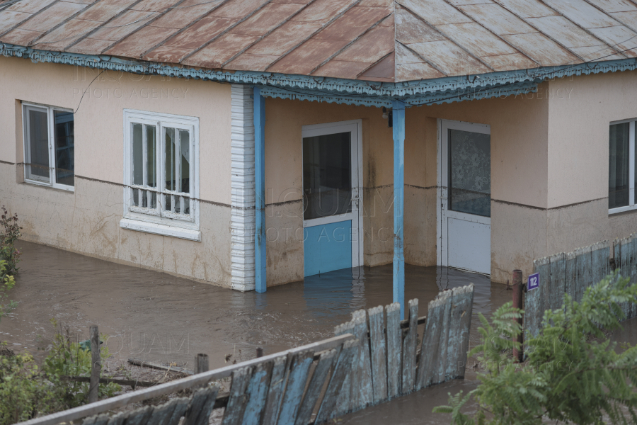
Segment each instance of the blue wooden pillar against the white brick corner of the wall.
[{"label": "blue wooden pillar against the white brick corner of the wall", "polygon": [[265,98],[254,88],[254,273],[255,289],[264,293],[265,285]]}]

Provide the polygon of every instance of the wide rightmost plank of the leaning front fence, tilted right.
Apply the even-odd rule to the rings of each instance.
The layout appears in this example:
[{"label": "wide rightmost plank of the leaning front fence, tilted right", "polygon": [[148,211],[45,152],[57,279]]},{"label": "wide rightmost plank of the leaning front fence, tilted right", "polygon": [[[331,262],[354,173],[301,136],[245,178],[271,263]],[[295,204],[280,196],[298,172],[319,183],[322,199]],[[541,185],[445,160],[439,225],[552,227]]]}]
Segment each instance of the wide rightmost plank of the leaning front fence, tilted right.
[{"label": "wide rightmost plank of the leaning front fence, tilted right", "polygon": [[452,289],[446,380],[464,378],[466,353],[469,351],[469,330],[471,329],[473,304],[473,283]]}]

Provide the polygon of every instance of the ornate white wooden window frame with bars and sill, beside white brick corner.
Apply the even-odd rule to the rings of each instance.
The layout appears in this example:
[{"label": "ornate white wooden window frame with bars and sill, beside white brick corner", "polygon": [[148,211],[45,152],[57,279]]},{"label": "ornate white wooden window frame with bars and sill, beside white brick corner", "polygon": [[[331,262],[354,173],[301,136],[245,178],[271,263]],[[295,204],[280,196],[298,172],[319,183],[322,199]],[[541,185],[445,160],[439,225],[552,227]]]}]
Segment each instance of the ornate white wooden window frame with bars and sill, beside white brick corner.
[{"label": "ornate white wooden window frame with bars and sill, beside white brick corner", "polygon": [[[132,205],[133,189],[137,188],[133,182],[132,167],[132,123],[155,125],[157,134],[157,208],[143,208]],[[168,191],[161,182],[165,182],[166,142],[163,128],[176,128],[190,132],[190,214],[183,215],[161,211],[161,196],[176,193]],[[144,140],[146,133],[144,132]],[[144,143],[144,150],[146,145]],[[144,173],[145,174],[145,173]],[[144,176],[144,180],[146,176]],[[161,195],[160,195],[161,194]],[[173,196],[173,203],[175,197]],[[178,237],[194,241],[201,241],[200,232],[200,201],[199,201],[199,118],[156,113],[147,111],[124,110],[124,217],[120,220],[120,227],[161,234],[163,236]]]}]

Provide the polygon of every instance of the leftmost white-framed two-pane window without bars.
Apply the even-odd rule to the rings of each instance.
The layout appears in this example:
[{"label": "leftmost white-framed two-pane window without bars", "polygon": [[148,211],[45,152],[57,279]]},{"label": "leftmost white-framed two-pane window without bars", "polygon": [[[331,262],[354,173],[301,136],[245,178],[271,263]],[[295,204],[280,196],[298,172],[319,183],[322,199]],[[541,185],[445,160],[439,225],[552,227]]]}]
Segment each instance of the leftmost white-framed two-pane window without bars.
[{"label": "leftmost white-framed two-pane window without bars", "polygon": [[73,191],[73,111],[32,103],[22,108],[25,181]]}]

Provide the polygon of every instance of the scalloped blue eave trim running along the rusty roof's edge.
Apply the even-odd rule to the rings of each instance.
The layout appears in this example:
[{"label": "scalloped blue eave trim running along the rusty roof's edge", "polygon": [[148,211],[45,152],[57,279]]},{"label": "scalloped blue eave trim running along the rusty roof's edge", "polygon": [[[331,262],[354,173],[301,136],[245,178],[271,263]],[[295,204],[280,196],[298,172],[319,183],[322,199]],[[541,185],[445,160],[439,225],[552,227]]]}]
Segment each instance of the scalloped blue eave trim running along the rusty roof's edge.
[{"label": "scalloped blue eave trim running along the rusty roof's edge", "polygon": [[[294,96],[294,90],[300,89],[299,96],[330,96],[338,97],[338,103],[347,103],[340,98],[343,95],[359,95],[357,104],[369,106],[387,106],[387,98],[400,98],[408,104],[413,104],[411,98],[420,96],[438,96],[444,98],[449,94],[471,93],[478,94],[470,98],[479,97],[481,91],[502,88],[512,89],[515,84],[537,84],[551,78],[570,77],[575,75],[599,74],[606,72],[621,72],[637,69],[637,59],[629,58],[604,62],[588,62],[583,64],[562,65],[559,67],[539,67],[536,69],[522,69],[504,72],[490,72],[488,74],[468,75],[459,77],[442,77],[420,81],[405,81],[401,83],[377,83],[337,79],[327,77],[309,77],[304,75],[276,74],[270,72],[224,72],[212,69],[195,69],[175,67],[157,62],[122,60],[105,55],[82,55],[80,53],[52,52],[35,50],[30,47],[0,43],[0,55],[6,57],[25,57],[33,62],[50,62],[71,64],[80,67],[109,69],[113,71],[132,72],[135,74],[156,74],[166,77],[205,79],[210,81],[229,82],[235,84],[254,84],[285,89],[289,93],[287,98]],[[272,92],[273,97],[281,97],[283,92]],[[268,94],[270,96],[270,94]],[[493,97],[493,96],[490,96]],[[380,98],[374,100],[374,98]],[[310,98],[308,98],[310,100]],[[466,98],[461,98],[466,100]],[[456,101],[456,100],[453,100]],[[355,103],[351,101],[350,103]]]}]

